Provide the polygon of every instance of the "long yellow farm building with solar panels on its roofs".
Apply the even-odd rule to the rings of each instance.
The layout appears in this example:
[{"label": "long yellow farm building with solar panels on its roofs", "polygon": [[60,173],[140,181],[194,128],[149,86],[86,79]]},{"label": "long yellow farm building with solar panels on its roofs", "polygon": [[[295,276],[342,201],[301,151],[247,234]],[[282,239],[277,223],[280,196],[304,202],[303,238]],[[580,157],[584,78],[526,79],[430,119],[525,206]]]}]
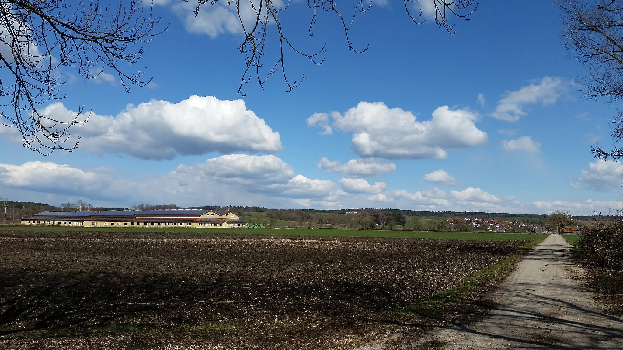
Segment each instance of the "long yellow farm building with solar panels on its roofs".
[{"label": "long yellow farm building with solar panels on its roofs", "polygon": [[229,210],[159,209],[41,212],[21,220],[22,225],[88,227],[245,227],[246,222]]}]

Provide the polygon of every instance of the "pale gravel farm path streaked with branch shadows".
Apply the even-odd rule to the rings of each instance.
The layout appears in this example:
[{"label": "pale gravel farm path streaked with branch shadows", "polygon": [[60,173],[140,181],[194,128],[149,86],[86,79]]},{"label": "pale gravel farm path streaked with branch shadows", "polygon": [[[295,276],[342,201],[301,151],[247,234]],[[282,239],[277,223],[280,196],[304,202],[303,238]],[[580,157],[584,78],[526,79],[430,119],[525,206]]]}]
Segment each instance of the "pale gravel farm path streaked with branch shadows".
[{"label": "pale gravel farm path streaked with branch shadows", "polygon": [[584,288],[578,277],[586,271],[569,260],[570,248],[563,237],[549,235],[493,291],[497,307],[484,321],[435,329],[410,344],[391,339],[359,350],[623,349],[623,318]]}]

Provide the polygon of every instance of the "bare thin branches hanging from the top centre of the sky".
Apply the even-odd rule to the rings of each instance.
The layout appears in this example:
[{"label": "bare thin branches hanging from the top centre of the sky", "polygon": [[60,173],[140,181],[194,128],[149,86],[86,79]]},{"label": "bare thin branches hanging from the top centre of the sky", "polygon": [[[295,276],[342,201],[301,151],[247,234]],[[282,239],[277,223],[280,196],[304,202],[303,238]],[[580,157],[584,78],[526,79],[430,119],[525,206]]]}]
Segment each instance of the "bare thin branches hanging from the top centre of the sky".
[{"label": "bare thin branches hanging from the top centre of the sky", "polygon": [[[249,82],[252,78],[257,79],[260,87],[264,88],[264,84],[270,77],[279,72],[285,84],[287,85],[286,91],[290,92],[293,88],[301,85],[303,80],[307,78],[303,73],[298,79],[288,78],[287,69],[285,67],[285,55],[290,50],[295,54],[302,55],[309,59],[313,64],[320,65],[324,59],[320,58],[320,54],[325,51],[323,45],[315,52],[303,52],[298,49],[298,45],[293,44],[287,35],[280,16],[282,12],[288,9],[292,5],[290,0],[184,0],[196,2],[195,14],[198,15],[201,11],[201,7],[216,6],[217,3],[226,2],[227,6],[235,7],[237,18],[239,19],[242,32],[244,34],[244,40],[240,44],[239,50],[246,57],[246,69],[240,79],[238,87],[238,93],[242,94],[242,87],[245,83]],[[403,0],[404,9],[407,16],[416,24],[423,24],[426,22],[426,18],[422,16],[420,2],[429,1],[432,7],[434,7],[435,24],[439,27],[444,27],[450,34],[455,33],[452,19],[458,17],[460,19],[468,20],[468,16],[473,13],[478,7],[478,3],[475,0]],[[335,17],[341,27],[341,32],[348,45],[349,50],[354,52],[364,52],[368,49],[365,46],[361,49],[356,49],[350,38],[350,31],[353,27],[354,19],[358,13],[367,12],[373,5],[373,0],[354,0],[350,2],[345,1],[346,4],[338,6],[337,0],[307,0],[307,6],[310,10],[310,24],[308,26],[308,33],[310,37],[314,35],[314,27],[318,16],[322,14],[330,14]],[[251,16],[248,16],[248,13]],[[351,16],[352,14],[352,16]],[[273,25],[273,26],[272,26]],[[277,58],[270,62],[265,67],[265,59],[267,54],[266,44],[271,35],[270,29],[274,28],[275,41],[278,42]],[[266,68],[266,70],[264,70]],[[244,96],[244,94],[242,94]]]}]

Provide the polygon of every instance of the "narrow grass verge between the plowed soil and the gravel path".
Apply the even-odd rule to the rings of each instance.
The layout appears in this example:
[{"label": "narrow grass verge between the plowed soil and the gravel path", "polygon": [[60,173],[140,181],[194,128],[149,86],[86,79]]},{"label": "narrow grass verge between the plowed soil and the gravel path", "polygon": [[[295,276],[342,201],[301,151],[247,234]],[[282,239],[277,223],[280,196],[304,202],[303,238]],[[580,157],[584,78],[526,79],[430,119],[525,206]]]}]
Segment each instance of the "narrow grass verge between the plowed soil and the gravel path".
[{"label": "narrow grass verge between the plowed soil and the gravel path", "polygon": [[[466,277],[454,288],[442,291],[427,300],[405,310],[396,311],[397,317],[424,316],[426,318],[470,321],[473,308],[482,305],[480,300],[515,270],[516,264],[531,248],[540,244],[545,237],[531,240],[508,257],[502,258],[487,268]],[[467,306],[466,306],[467,305]],[[471,307],[470,307],[471,306]],[[468,316],[470,315],[470,316]]]}]

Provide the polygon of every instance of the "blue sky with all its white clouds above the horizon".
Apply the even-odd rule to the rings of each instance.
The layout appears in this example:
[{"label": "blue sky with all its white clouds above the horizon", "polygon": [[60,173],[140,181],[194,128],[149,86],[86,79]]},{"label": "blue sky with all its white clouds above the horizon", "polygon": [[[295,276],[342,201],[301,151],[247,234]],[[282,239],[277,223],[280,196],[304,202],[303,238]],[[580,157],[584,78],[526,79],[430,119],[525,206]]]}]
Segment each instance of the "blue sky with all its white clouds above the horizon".
[{"label": "blue sky with all its white clouds above the horizon", "polygon": [[587,100],[574,83],[586,71],[561,44],[549,1],[482,2],[454,35],[413,24],[400,1],[374,4],[351,30],[363,54],[328,14],[310,38],[307,5],[293,2],[282,12],[290,40],[307,52],[326,42],[324,63],[288,53],[303,85],[285,92],[275,74],[265,90],[245,84],[244,97],[237,28],[219,4],[199,17],[184,6],[155,5],[169,28],[138,63],[148,87],[128,93],[107,69],[92,80],[63,70],[76,78],[45,113],[92,111],[74,129],[79,149],[42,156],[0,131],[0,196],[573,214],[619,204],[623,165],[591,154],[596,140],[611,143],[617,104]]}]

